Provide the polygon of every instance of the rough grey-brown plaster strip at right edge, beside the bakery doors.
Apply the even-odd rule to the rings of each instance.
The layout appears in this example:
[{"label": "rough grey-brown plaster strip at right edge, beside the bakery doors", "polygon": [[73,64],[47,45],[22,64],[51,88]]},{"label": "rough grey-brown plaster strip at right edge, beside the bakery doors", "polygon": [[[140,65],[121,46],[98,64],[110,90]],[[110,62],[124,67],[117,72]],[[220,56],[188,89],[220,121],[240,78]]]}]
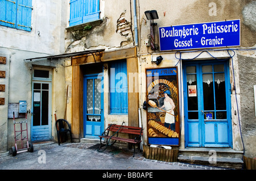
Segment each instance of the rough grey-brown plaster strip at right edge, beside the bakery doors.
[{"label": "rough grey-brown plaster strip at right edge, beside the bakery doors", "polygon": [[242,52],[238,55],[239,77],[240,77],[240,121],[243,142],[245,144],[245,155],[254,158],[256,155],[256,117],[254,88],[256,85],[256,58],[255,52]]}]

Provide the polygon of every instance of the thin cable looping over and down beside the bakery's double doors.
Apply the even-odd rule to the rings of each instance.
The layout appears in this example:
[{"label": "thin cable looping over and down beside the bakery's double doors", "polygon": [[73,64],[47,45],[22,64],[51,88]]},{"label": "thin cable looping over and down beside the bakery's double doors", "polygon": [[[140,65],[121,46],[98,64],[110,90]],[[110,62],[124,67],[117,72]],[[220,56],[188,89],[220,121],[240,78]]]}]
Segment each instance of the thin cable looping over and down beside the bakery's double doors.
[{"label": "thin cable looping over and down beside the bakery's double doors", "polygon": [[[213,50],[213,51],[223,51],[223,50],[226,50],[229,54],[229,57],[228,58],[225,58],[225,59],[218,59],[216,57],[214,57],[210,52],[209,50]],[[218,61],[226,61],[226,60],[229,60],[231,59],[231,62],[232,62],[232,71],[233,71],[233,79],[234,79],[234,91],[235,91],[235,96],[236,96],[236,106],[237,106],[237,115],[238,115],[238,123],[239,123],[239,127],[240,127],[240,135],[241,135],[241,140],[242,140],[242,146],[243,146],[243,155],[245,154],[245,146],[244,146],[244,143],[243,143],[243,138],[242,138],[242,132],[241,132],[241,124],[240,124],[240,114],[239,114],[239,109],[238,109],[238,101],[237,101],[237,91],[236,91],[236,81],[235,81],[235,76],[234,76],[234,64],[233,64],[233,57],[235,56],[236,52],[234,50],[256,50],[255,48],[254,49],[208,49],[208,50],[192,50],[192,51],[184,51],[184,52],[176,52],[175,53],[175,58],[177,58],[177,60],[179,60],[177,62],[177,64],[180,64],[180,72],[181,72],[181,61],[184,60],[184,61],[192,61],[192,60],[195,60],[197,57],[200,56],[200,54],[206,52],[208,53],[211,57],[213,57],[215,60],[218,60]],[[233,55],[230,54],[230,51],[233,52]],[[183,59],[181,58],[181,54],[182,53],[189,53],[189,52],[200,52],[199,54],[197,54],[197,56],[193,57],[193,58],[189,58],[189,59]],[[177,54],[179,54],[179,57],[177,57]],[[175,66],[177,66],[177,64]],[[180,75],[180,79],[181,79],[181,75]],[[181,85],[181,82],[180,82],[180,85]],[[182,109],[181,109],[182,110]],[[181,128],[181,127],[180,127]],[[243,158],[242,158],[243,159]]]}]

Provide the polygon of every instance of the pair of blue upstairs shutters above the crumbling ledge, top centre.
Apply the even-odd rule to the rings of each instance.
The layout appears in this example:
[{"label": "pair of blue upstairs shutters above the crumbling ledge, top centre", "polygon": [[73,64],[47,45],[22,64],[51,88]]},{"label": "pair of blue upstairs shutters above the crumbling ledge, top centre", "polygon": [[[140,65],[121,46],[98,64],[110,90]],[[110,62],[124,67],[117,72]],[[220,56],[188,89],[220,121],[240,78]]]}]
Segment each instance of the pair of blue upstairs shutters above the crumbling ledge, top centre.
[{"label": "pair of blue upstairs shutters above the crumbling ledge, top centre", "polygon": [[71,0],[69,26],[100,19],[100,0]]}]

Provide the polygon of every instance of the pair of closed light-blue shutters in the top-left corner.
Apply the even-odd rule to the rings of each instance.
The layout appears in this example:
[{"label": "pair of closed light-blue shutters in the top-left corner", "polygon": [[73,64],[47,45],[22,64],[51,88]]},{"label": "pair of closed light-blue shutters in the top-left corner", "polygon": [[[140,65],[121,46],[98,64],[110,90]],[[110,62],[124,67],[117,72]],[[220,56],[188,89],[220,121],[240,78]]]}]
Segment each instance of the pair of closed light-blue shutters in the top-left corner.
[{"label": "pair of closed light-blue shutters in the top-left corner", "polygon": [[0,25],[31,31],[32,0],[0,0]]}]

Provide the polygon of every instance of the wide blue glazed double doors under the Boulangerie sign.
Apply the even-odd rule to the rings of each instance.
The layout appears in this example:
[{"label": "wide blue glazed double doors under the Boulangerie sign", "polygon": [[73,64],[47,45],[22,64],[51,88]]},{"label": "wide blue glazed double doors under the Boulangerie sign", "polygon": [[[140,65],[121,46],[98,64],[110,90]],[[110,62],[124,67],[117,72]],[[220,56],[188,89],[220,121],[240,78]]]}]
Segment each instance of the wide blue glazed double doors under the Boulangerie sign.
[{"label": "wide blue glazed double doors under the Boulangerie sign", "polygon": [[232,146],[228,70],[226,61],[185,63],[185,146]]}]

